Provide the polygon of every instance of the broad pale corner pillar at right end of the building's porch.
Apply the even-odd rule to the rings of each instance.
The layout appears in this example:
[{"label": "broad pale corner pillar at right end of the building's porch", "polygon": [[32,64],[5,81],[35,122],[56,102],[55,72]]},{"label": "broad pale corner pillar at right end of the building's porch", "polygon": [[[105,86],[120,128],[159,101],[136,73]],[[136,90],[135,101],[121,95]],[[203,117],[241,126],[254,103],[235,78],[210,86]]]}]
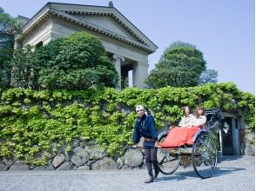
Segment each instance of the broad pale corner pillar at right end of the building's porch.
[{"label": "broad pale corner pillar at right end of the building's porch", "polygon": [[140,89],[144,88],[145,79],[148,76],[148,67],[147,63],[135,63],[132,69],[132,86],[138,87]]}]

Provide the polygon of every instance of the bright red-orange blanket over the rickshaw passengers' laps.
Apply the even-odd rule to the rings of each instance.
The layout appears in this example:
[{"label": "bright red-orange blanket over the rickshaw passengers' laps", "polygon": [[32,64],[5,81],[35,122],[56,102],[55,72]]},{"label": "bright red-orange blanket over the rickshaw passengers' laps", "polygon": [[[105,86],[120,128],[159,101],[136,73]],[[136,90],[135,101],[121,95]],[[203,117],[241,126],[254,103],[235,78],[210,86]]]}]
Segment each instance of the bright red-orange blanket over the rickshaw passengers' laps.
[{"label": "bright red-orange blanket over the rickshaw passengers' laps", "polygon": [[159,145],[162,148],[180,147],[182,145],[192,145],[194,135],[199,131],[199,127],[192,128],[172,128],[164,142]]}]

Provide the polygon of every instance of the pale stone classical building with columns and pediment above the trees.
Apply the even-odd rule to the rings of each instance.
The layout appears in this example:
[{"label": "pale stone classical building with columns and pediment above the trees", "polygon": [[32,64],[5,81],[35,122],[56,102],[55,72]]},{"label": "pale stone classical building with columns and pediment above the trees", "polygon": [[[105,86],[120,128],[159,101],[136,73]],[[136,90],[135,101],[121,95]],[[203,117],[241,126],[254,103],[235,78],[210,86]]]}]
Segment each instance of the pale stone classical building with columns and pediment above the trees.
[{"label": "pale stone classical building with columns and pediment above the trees", "polygon": [[[104,49],[122,79],[132,71],[132,86],[143,88],[148,76],[148,55],[158,47],[138,30],[112,3],[108,7],[69,3],[47,3],[30,19],[18,16],[23,33],[16,47],[44,45],[76,31],[101,38]],[[121,82],[119,82],[121,86]]]}]

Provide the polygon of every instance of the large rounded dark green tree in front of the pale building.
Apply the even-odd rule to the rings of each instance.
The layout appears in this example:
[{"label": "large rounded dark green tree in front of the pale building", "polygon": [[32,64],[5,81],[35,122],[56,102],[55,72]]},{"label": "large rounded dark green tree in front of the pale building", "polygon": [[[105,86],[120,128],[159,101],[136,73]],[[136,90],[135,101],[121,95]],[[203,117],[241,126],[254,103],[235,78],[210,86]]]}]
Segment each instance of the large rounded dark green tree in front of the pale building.
[{"label": "large rounded dark green tree in front of the pale building", "polygon": [[44,89],[116,87],[118,72],[100,39],[85,32],[59,38],[35,51],[38,83]]}]

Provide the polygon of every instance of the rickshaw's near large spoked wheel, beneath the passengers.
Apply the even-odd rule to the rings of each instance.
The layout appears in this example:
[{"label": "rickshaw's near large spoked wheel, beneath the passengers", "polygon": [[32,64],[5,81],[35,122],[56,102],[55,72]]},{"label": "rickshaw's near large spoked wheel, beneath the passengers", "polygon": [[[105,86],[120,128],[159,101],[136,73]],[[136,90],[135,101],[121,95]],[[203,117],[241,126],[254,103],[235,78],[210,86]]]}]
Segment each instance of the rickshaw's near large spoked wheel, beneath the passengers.
[{"label": "rickshaw's near large spoked wheel, beneath the passengers", "polygon": [[192,165],[199,177],[213,175],[217,165],[217,148],[210,135],[201,134],[192,146]]}]

